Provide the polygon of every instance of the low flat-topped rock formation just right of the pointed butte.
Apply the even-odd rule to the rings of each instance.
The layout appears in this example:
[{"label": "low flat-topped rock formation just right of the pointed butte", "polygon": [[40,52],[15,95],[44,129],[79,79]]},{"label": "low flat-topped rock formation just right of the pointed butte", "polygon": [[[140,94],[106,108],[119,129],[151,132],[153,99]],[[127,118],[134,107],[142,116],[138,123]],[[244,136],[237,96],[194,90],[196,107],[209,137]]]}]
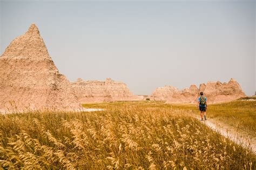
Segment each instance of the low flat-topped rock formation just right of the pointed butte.
[{"label": "low flat-topped rock formation just right of the pointed butte", "polygon": [[140,100],[140,97],[132,94],[126,84],[111,78],[107,78],[106,81],[84,81],[78,78],[71,85],[75,89],[80,103]]}]

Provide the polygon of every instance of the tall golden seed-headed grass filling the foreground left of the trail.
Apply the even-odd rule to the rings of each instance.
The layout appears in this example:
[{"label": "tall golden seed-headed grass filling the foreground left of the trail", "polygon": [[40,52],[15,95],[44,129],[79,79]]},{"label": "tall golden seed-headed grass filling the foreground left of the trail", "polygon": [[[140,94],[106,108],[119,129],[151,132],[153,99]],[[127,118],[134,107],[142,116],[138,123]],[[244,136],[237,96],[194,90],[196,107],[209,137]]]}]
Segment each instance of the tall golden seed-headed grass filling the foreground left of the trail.
[{"label": "tall golden seed-headed grass filling the foreground left of the trail", "polygon": [[191,111],[149,102],[100,105],[106,110],[0,115],[1,167],[256,168],[250,148],[187,116]]}]

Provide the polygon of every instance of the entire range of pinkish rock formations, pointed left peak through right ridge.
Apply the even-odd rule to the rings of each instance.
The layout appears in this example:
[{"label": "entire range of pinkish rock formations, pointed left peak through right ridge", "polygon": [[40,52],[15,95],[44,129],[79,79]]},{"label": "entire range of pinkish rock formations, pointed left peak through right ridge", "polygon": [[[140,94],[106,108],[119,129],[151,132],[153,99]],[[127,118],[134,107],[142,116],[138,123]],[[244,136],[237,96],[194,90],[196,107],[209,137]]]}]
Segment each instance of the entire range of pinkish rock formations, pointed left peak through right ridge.
[{"label": "entire range of pinkish rock formations, pointed left peak through right ridge", "polygon": [[197,103],[203,91],[209,104],[245,97],[234,79],[228,83],[209,81],[199,88],[178,90],[173,86],[157,88],[150,96],[134,95],[126,84],[105,81],[70,82],[53,63],[35,24],[15,38],[0,57],[0,109],[80,108],[82,103],[103,101],[164,100],[167,103]]}]

